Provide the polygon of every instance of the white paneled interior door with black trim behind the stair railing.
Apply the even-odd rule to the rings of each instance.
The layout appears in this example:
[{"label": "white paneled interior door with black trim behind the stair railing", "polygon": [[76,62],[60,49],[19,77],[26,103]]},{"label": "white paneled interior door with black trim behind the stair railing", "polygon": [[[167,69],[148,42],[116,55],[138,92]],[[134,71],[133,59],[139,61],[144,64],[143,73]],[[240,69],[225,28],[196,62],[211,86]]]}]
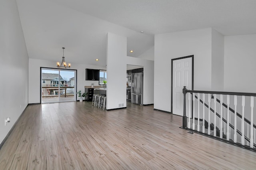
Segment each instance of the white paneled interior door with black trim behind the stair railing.
[{"label": "white paneled interior door with black trim behind the stair railing", "polygon": [[172,114],[183,116],[182,89],[192,89],[192,57],[173,60],[172,69]]}]

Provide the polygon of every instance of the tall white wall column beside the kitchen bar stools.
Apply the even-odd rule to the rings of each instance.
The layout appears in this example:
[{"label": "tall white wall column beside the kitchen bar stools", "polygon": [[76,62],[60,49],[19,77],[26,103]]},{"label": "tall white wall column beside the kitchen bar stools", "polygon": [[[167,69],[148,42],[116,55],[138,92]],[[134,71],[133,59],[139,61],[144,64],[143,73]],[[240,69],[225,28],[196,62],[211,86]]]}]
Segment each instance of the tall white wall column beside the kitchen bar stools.
[{"label": "tall white wall column beside the kitchen bar stools", "polygon": [[[107,109],[126,107],[127,38],[108,33],[107,40]],[[119,106],[121,104],[121,106]],[[123,106],[122,106],[123,104]]]}]

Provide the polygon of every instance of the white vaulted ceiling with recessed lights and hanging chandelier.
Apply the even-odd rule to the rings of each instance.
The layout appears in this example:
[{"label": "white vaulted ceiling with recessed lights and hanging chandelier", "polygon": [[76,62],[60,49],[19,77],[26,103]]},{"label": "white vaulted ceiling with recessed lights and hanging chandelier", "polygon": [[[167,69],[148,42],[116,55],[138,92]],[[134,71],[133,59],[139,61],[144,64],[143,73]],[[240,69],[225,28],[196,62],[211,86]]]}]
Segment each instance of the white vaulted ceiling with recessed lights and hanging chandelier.
[{"label": "white vaulted ceiling with recessed lights and hanging chandelier", "polygon": [[132,57],[154,46],[154,34],[209,27],[225,36],[256,34],[256,0],[16,1],[36,59],[60,61],[65,47],[67,62],[106,65],[107,32],[126,36]]}]

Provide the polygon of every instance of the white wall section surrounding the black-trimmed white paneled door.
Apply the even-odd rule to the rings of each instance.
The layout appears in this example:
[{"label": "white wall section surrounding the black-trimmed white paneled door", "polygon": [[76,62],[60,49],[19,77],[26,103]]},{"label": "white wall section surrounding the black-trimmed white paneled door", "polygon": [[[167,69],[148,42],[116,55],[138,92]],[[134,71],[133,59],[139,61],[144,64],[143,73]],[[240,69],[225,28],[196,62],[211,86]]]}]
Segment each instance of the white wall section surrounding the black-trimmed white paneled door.
[{"label": "white wall section surrounding the black-trimmed white paneled door", "polygon": [[194,55],[194,89],[211,89],[212,28],[155,35],[154,109],[171,111],[171,59]]}]

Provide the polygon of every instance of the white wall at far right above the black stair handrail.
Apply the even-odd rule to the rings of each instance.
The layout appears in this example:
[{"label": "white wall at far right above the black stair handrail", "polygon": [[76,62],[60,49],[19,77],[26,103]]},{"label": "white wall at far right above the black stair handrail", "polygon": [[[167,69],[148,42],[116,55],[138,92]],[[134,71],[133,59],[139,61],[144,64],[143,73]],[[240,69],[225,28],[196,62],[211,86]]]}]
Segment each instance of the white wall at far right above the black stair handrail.
[{"label": "white wall at far right above the black stair handrail", "polygon": [[224,90],[256,93],[256,34],[225,36]]}]

